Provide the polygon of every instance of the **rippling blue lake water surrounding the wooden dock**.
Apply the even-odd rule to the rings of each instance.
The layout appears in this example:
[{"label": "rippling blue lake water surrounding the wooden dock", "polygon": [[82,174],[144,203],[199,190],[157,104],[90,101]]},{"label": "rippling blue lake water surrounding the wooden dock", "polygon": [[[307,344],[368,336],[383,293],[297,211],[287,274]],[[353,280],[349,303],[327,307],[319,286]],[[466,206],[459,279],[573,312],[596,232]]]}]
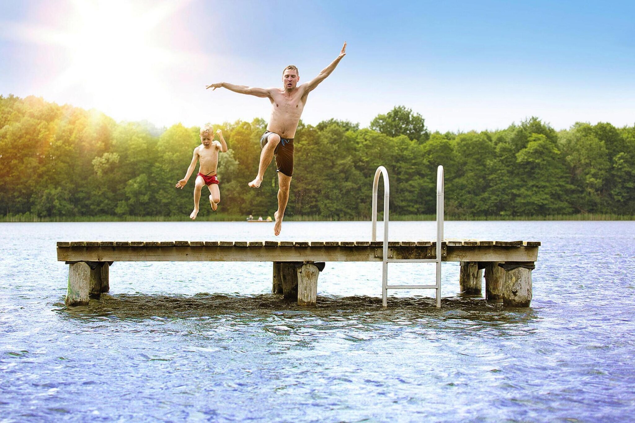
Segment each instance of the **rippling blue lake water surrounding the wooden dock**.
[{"label": "rippling blue lake water surrounding the wooden dock", "polygon": [[[434,235],[391,223],[391,240]],[[120,262],[109,294],[66,309],[57,241],[272,240],[272,224],[0,223],[0,422],[632,420],[635,222],[445,235],[541,241],[531,308],[458,296],[458,263],[441,309],[432,290],[382,309],[380,263],[327,263],[302,309],[271,294],[271,263]],[[280,239],[368,240],[370,223]],[[389,283],[432,281],[434,264],[389,266]]]}]

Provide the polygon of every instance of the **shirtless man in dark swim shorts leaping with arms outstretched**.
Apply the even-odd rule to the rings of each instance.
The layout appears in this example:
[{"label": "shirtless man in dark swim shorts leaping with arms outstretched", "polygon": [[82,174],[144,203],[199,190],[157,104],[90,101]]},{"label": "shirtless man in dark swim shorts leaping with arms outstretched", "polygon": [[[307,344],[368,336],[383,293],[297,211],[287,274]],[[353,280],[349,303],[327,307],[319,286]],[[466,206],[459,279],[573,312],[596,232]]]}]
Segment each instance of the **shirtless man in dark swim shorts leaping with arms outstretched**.
[{"label": "shirtless man in dark swim shorts leaping with arms outstretched", "polygon": [[291,176],[293,176],[293,137],[295,136],[298,122],[300,122],[304,105],[307,103],[307,96],[335,70],[335,67],[345,55],[346,42],[344,42],[340,55],[330,65],[325,67],[314,79],[300,86],[298,86],[298,81],[300,81],[298,68],[289,65],[283,70],[283,88],[254,88],[227,82],[217,82],[206,87],[211,89],[227,88],[230,91],[234,91],[234,93],[269,98],[269,101],[271,101],[271,118],[267,125],[267,131],[260,138],[262,152],[260,153],[258,175],[256,179],[249,183],[249,186],[252,188],[260,186],[265,171],[271,163],[271,159],[275,156],[279,185],[277,194],[278,209],[274,213],[274,218],[276,218],[274,233],[276,235],[280,235],[284,209],[286,209],[286,202],[289,199],[289,187],[291,185]]}]

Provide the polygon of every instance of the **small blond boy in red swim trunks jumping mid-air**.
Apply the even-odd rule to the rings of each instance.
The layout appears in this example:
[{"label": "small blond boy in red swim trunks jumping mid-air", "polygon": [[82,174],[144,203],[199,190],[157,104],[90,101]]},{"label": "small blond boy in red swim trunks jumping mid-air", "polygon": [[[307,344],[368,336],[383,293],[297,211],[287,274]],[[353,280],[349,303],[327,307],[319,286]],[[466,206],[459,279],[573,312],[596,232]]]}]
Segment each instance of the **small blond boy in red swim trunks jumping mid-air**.
[{"label": "small blond boy in red swim trunks jumping mid-air", "polygon": [[212,210],[218,209],[218,203],[220,202],[220,191],[218,190],[218,178],[216,171],[218,167],[218,151],[222,153],[227,152],[227,143],[223,138],[223,131],[218,129],[216,131],[220,141],[213,141],[214,129],[210,124],[206,124],[201,128],[201,145],[194,148],[194,155],[192,155],[192,162],[190,167],[187,168],[185,178],[177,182],[177,188],[183,189],[187,181],[194,172],[196,162],[198,161],[199,172],[196,174],[196,181],[194,182],[194,211],[190,214],[190,219],[196,219],[196,215],[199,211],[199,200],[201,199],[201,188],[203,185],[207,185],[210,190],[210,205]]}]

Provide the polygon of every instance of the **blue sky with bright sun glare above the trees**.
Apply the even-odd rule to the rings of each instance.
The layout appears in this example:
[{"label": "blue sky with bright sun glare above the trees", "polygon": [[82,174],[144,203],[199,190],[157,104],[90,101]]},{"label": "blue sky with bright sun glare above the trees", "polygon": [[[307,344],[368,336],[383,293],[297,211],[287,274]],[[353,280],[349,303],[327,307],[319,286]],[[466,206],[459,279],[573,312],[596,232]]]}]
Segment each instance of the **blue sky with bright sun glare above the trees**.
[{"label": "blue sky with bright sun glare above the trees", "polygon": [[367,126],[405,105],[432,131],[535,115],[635,124],[633,1],[0,0],[0,94],[36,94],[159,126],[269,117],[269,102],[204,85],[311,79],[302,119]]}]

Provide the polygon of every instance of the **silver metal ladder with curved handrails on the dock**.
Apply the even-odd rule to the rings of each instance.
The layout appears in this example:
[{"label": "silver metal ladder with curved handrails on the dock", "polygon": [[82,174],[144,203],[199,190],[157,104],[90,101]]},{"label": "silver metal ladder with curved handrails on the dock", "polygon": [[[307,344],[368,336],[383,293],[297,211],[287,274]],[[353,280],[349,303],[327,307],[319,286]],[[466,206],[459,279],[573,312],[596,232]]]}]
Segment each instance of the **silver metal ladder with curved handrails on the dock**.
[{"label": "silver metal ladder with curved handrails on the dock", "polygon": [[[373,233],[372,240],[377,240],[377,188],[379,176],[384,179],[384,245],[382,250],[382,306],[386,307],[389,289],[435,289],[436,306],[441,307],[441,244],[443,242],[443,166],[437,168],[437,238],[436,258],[434,259],[390,259],[388,257],[388,206],[390,199],[390,183],[388,171],[384,166],[377,167],[373,180]],[[436,263],[436,283],[434,285],[388,285],[388,263]]]}]

